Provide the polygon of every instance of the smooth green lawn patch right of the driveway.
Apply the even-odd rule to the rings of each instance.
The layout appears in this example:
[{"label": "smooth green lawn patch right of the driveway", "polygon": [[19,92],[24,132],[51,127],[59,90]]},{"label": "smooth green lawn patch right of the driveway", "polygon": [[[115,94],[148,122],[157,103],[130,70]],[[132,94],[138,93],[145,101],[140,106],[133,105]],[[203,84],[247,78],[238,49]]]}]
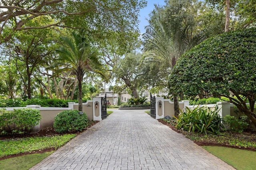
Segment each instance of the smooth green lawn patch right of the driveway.
[{"label": "smooth green lawn patch right of the driveway", "polygon": [[227,162],[237,170],[255,170],[256,152],[227,147],[202,146],[208,152],[214,154],[224,162]]}]

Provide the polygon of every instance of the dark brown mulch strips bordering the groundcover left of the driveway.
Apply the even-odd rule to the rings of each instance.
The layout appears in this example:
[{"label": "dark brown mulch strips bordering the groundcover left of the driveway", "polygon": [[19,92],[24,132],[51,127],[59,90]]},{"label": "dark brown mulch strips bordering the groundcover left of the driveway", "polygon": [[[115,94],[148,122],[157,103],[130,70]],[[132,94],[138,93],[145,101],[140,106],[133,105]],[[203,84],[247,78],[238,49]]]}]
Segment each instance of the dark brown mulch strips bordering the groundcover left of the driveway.
[{"label": "dark brown mulch strips bordering the groundcover left of the driveway", "polygon": [[[86,129],[82,130],[82,131],[76,131],[76,132],[70,132],[70,133],[58,133],[54,130],[54,128],[52,127],[48,127],[46,129],[42,129],[40,132],[38,133],[34,133],[34,134],[27,134],[27,135],[8,135],[8,136],[0,136],[0,140],[6,140],[6,139],[17,139],[17,138],[25,138],[25,137],[44,137],[44,136],[55,136],[55,135],[64,135],[64,134],[76,134],[76,135],[80,135],[81,133],[83,133],[84,131],[86,131],[88,128],[92,127],[93,125],[95,125],[96,123],[98,123],[99,121],[95,121],[94,123],[92,123],[90,126],[88,126]],[[49,148],[49,149],[44,149],[44,150],[37,150],[37,151],[33,151],[33,152],[26,152],[26,153],[20,153],[20,154],[15,154],[15,155],[10,155],[10,156],[5,156],[0,158],[0,160],[4,160],[4,159],[8,159],[8,158],[14,158],[17,156],[24,156],[24,155],[28,155],[28,154],[35,154],[35,153],[44,153],[44,152],[51,152],[55,150],[55,148]]]}]

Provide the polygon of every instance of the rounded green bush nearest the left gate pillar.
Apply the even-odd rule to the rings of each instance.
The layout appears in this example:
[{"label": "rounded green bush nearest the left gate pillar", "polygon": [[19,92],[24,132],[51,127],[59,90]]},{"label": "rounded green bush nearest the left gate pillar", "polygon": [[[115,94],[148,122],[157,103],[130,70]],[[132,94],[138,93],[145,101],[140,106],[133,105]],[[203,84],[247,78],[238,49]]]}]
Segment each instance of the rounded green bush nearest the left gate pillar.
[{"label": "rounded green bush nearest the left gate pillar", "polygon": [[62,111],[54,118],[53,127],[58,133],[82,131],[88,125],[85,113],[79,114],[78,110]]}]

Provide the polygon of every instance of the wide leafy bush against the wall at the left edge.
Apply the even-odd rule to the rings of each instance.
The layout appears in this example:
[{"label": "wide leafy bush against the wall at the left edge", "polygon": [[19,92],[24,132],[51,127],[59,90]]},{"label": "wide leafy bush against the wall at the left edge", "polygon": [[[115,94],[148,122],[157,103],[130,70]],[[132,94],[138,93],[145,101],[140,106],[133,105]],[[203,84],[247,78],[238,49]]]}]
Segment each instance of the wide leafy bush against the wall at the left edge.
[{"label": "wide leafy bush against the wall at the left edge", "polygon": [[0,135],[30,133],[41,120],[40,110],[31,108],[0,112]]}]

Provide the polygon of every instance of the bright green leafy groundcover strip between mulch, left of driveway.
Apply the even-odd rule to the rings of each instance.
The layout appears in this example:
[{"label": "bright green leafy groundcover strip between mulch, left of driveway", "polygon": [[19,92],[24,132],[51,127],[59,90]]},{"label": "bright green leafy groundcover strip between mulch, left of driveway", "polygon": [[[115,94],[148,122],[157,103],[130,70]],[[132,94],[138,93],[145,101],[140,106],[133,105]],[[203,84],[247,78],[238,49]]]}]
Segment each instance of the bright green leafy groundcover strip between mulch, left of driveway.
[{"label": "bright green leafy groundcover strip between mulch, left of driveway", "polygon": [[32,152],[35,150],[44,150],[48,148],[58,149],[70,139],[74,138],[75,134],[66,134],[62,136],[52,136],[52,137],[31,137],[31,138],[21,138],[21,139],[10,139],[5,141],[0,141],[0,157]]}]

